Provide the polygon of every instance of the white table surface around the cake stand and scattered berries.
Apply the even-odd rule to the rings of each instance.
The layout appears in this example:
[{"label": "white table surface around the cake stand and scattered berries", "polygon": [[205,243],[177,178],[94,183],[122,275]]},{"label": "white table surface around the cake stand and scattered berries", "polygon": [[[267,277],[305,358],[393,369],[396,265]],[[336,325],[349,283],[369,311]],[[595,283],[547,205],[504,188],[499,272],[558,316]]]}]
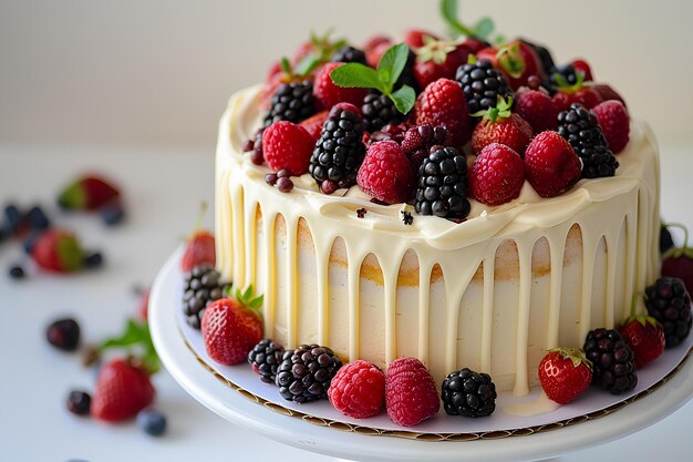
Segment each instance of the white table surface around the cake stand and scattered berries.
[{"label": "white table surface around the cake stand and scattered berries", "polygon": [[[106,425],[65,410],[73,388],[92,390],[94,372],[76,355],[44,340],[45,326],[74,316],[84,342],[120,332],[134,315],[134,286],[146,286],[194,225],[199,203],[213,202],[213,147],[104,147],[0,144],[0,206],[15,201],[44,206],[58,225],[77,233],[85,247],[100,249],[105,265],[74,276],[30,274],[12,281],[8,268],[22,261],[21,246],[0,245],[0,461],[333,461],[263,439],[227,423],[199,405],[165,372],[155,378],[157,407],[168,417],[161,439],[134,423]],[[662,146],[662,216],[693,229],[689,177],[693,153],[684,144]],[[81,172],[97,171],[122,185],[127,222],[106,228],[96,216],[65,215],[54,205],[58,191]],[[210,227],[213,215],[205,224]],[[31,271],[30,271],[31,273]],[[690,460],[693,403],[628,438],[560,456],[563,462]],[[527,438],[531,444],[531,437]],[[665,444],[664,454],[662,444]],[[252,459],[248,459],[252,458]],[[281,459],[279,459],[281,458]]]}]

